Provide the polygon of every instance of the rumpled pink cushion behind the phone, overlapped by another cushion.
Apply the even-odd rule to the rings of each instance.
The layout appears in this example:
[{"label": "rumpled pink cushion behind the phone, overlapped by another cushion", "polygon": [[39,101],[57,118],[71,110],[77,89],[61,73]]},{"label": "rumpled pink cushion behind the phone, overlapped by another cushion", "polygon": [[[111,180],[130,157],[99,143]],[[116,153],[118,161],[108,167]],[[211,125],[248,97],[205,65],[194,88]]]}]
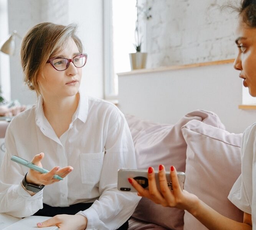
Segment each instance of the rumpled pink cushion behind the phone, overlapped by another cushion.
[{"label": "rumpled pink cushion behind the phone, overlapped by another cushion", "polygon": [[[215,113],[196,110],[182,117],[175,125],[153,123],[130,115],[126,119],[134,141],[137,167],[158,169],[164,164],[168,170],[175,165],[185,172],[187,144],[182,135],[182,126],[191,120],[198,120],[220,128],[225,128]],[[149,199],[142,198],[132,215],[146,222],[156,223],[174,230],[183,229],[184,211],[162,207]]]}]

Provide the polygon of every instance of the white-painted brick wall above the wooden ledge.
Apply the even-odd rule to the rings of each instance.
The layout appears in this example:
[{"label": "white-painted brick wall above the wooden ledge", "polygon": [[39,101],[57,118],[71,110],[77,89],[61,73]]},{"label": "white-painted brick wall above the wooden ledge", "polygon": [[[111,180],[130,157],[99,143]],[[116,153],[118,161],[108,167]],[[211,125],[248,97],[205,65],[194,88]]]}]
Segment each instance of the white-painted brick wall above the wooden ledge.
[{"label": "white-painted brick wall above the wooden ledge", "polygon": [[221,11],[218,5],[225,4],[226,0],[145,0],[152,7],[152,18],[144,18],[147,67],[234,58],[237,13]]}]

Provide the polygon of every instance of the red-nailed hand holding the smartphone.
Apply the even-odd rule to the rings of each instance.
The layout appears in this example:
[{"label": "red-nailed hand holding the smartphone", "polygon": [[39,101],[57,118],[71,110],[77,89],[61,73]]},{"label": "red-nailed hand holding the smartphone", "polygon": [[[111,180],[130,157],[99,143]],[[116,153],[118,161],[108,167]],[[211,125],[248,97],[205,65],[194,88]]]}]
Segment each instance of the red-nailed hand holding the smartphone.
[{"label": "red-nailed hand holding the smartphone", "polygon": [[185,190],[180,188],[176,169],[171,167],[171,180],[173,191],[170,191],[165,168],[163,165],[159,166],[159,183],[160,183],[160,191],[157,189],[157,185],[155,182],[155,172],[154,168],[149,167],[148,171],[148,179],[149,179],[149,190],[144,189],[140,186],[137,181],[132,178],[129,178],[129,182],[132,182],[132,186],[138,191],[138,195],[142,197],[147,197],[150,200],[154,201],[156,204],[161,204],[165,207],[176,207],[178,209],[188,210],[190,213],[196,209],[199,199],[196,195],[191,194]]}]

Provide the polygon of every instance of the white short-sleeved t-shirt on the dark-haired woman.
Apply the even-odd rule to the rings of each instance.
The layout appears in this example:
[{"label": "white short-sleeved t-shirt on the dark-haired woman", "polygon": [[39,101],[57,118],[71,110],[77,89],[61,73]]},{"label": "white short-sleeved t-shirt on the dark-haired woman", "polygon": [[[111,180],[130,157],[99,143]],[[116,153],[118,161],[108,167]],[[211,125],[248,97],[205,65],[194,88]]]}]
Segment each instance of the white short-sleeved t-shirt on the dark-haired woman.
[{"label": "white short-sleeved t-shirt on the dark-haired woman", "polygon": [[243,134],[241,144],[241,175],[233,185],[228,199],[243,212],[252,215],[256,229],[256,123]]}]

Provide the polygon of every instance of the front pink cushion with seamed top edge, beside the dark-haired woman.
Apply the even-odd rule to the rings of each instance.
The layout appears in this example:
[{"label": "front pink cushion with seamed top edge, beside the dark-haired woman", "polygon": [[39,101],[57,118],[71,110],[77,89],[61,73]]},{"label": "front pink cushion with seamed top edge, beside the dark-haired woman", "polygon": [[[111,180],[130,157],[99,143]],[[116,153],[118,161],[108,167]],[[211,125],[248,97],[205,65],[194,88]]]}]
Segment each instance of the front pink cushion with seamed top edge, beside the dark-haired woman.
[{"label": "front pink cushion with seamed top edge, beside the dark-haired woman", "polygon": [[[229,200],[228,194],[241,173],[242,134],[229,133],[199,120],[182,127],[187,142],[184,189],[198,196],[210,207],[233,220],[243,221],[243,212]],[[187,211],[184,230],[206,230]]]}]

